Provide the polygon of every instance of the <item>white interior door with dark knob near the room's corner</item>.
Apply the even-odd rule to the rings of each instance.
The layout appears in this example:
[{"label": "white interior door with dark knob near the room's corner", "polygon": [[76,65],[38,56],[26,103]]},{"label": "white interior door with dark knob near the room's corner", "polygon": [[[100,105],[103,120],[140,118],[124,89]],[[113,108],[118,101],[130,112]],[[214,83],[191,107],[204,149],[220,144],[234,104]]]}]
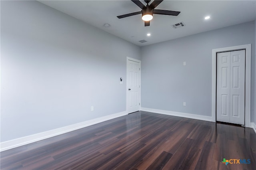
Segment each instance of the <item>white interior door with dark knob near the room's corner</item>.
[{"label": "white interior door with dark knob near the room's corner", "polygon": [[127,98],[128,113],[140,110],[140,61],[127,60]]}]

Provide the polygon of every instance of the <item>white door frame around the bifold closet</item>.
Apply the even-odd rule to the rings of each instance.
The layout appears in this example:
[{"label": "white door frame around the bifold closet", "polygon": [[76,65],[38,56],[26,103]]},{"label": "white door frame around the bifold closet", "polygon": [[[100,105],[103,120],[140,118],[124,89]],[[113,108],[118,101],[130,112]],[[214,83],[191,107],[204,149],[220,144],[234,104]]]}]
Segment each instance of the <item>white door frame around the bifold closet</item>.
[{"label": "white door frame around the bifold closet", "polygon": [[218,52],[245,49],[245,127],[251,125],[251,44],[212,49],[212,121],[216,122],[216,66]]}]

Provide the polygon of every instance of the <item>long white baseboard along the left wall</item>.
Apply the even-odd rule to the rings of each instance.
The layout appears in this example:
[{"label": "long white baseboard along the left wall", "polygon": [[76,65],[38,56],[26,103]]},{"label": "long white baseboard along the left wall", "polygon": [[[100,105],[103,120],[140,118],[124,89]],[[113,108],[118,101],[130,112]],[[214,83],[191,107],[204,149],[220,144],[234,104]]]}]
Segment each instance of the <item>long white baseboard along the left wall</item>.
[{"label": "long white baseboard along the left wall", "polygon": [[76,123],[76,124],[69,125],[69,126],[66,126],[66,127],[56,128],[56,129],[49,130],[49,131],[46,131],[46,132],[32,134],[30,136],[25,136],[25,137],[22,137],[22,138],[9,140],[9,141],[6,141],[6,142],[1,142],[0,143],[0,152],[4,151],[4,150],[16,148],[18,146],[22,146],[22,145],[25,145],[25,144],[29,144],[29,143],[32,143],[32,142],[36,142],[36,141],[39,141],[39,140],[43,140],[43,139],[46,139],[46,138],[50,138],[50,137],[53,137],[53,136],[57,136],[59,134],[64,134],[66,132],[70,132],[70,131],[77,130],[77,129],[80,129],[80,128],[88,127],[90,125],[94,125],[94,124],[97,124],[97,123],[108,121],[110,119],[114,119],[114,118],[121,117],[121,116],[124,116],[124,115],[127,115],[126,111],[116,113],[116,114],[112,114],[112,115],[108,115],[108,116],[104,116],[104,117],[100,117],[100,118],[96,118],[96,119],[92,119],[92,120],[89,120],[89,121],[84,121],[84,122],[81,122],[81,123]]}]

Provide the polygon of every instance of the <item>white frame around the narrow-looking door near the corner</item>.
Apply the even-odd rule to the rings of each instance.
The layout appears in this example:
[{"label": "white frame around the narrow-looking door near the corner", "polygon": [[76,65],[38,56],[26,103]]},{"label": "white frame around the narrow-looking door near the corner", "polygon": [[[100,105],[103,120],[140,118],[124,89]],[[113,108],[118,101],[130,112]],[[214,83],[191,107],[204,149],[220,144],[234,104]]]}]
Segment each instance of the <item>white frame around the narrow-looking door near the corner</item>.
[{"label": "white frame around the narrow-looking door near the corner", "polygon": [[[134,59],[134,58],[131,58],[131,57],[126,57],[126,113],[128,113],[128,61],[135,61],[135,62],[138,62],[139,63],[139,68],[141,68],[141,61],[138,60],[138,59]],[[141,69],[140,69],[140,72],[139,72],[139,103],[140,103],[140,106],[139,106],[139,111],[141,110]]]}]

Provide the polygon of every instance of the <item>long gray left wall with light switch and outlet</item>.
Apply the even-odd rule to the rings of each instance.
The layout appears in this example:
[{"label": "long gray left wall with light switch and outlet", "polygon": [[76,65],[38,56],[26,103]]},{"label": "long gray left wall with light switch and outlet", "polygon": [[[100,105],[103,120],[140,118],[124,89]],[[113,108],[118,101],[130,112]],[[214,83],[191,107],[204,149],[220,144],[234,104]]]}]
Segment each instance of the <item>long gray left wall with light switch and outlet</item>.
[{"label": "long gray left wall with light switch and outlet", "polygon": [[125,111],[127,56],[140,47],[40,2],[1,1],[1,142]]}]

